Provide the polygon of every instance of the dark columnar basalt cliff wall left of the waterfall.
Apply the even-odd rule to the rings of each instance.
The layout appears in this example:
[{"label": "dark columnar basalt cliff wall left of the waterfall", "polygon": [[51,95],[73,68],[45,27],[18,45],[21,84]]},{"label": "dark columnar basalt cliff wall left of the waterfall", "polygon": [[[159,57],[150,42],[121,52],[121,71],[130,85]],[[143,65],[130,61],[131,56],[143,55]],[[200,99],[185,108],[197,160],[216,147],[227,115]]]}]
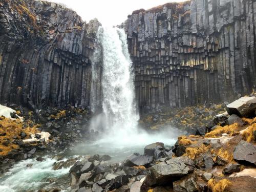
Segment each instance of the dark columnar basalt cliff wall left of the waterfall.
[{"label": "dark columnar basalt cliff wall left of the waterfall", "polygon": [[99,25],[55,3],[1,1],[0,101],[89,105],[89,58]]}]

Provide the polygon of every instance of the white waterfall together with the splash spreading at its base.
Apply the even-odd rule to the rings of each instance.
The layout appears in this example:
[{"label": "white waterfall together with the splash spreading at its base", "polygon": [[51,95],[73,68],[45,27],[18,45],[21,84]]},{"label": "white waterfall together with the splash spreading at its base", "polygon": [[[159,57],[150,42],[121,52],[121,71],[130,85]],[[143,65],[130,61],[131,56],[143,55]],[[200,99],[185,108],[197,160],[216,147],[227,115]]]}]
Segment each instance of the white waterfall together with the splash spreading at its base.
[{"label": "white waterfall together with the splash spreading at its base", "polygon": [[122,29],[98,29],[92,65],[91,108],[93,112],[102,111],[92,119],[91,129],[105,131],[103,138],[95,143],[97,153],[113,155],[113,152],[120,152],[117,148],[127,152],[136,148],[137,152],[141,152],[149,143],[175,142],[170,133],[150,135],[138,129],[134,73],[126,34]]}]

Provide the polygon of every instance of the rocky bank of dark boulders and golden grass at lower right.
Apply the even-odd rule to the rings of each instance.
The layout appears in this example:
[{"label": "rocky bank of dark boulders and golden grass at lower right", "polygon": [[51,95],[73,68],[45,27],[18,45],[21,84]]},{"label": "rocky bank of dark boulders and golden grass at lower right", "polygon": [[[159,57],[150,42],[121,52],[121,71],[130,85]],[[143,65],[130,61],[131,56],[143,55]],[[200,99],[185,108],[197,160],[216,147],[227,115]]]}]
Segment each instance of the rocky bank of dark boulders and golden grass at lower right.
[{"label": "rocky bank of dark boulders and golden grass at lower right", "polygon": [[109,156],[83,157],[70,169],[72,191],[254,191],[256,97],[226,109],[204,133],[180,136],[172,148],[152,143],[115,164]]}]

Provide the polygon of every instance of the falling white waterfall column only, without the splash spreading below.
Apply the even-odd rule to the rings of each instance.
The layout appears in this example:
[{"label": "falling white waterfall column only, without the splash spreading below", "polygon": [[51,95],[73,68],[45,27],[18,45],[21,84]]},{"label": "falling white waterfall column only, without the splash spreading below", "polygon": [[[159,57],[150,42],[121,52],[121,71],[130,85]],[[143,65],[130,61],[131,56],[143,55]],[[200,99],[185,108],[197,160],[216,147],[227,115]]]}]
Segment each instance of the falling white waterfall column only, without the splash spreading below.
[{"label": "falling white waterfall column only, without the splash spreading below", "polygon": [[136,112],[134,73],[122,29],[99,27],[92,64],[91,108],[102,111],[92,122],[122,137],[135,130]]}]

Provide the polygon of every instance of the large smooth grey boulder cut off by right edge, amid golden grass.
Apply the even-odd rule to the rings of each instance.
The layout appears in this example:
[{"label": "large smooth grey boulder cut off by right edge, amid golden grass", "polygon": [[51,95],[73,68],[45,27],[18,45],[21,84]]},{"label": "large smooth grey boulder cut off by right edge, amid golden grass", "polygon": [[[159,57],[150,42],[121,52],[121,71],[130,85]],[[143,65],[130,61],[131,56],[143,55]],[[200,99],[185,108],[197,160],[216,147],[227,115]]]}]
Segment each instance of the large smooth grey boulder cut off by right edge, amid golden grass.
[{"label": "large smooth grey boulder cut off by right edge, amid golden grass", "polygon": [[240,141],[234,148],[233,159],[256,165],[256,146],[247,141]]}]

